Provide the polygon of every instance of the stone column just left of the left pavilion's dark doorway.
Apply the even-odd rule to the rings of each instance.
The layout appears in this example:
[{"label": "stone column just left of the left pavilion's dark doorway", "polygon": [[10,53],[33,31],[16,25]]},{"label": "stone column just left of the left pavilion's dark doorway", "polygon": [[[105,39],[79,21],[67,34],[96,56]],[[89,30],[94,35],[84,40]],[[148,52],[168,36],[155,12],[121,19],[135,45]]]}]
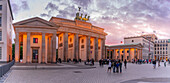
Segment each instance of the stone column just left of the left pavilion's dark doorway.
[{"label": "stone column just left of the left pavilion's dark doorway", "polygon": [[30,32],[27,32],[27,58],[26,58],[26,60],[27,60],[27,63],[30,63],[31,62],[31,55],[30,55],[30,53],[31,53],[31,47],[30,47],[30,35],[31,35],[31,33]]}]

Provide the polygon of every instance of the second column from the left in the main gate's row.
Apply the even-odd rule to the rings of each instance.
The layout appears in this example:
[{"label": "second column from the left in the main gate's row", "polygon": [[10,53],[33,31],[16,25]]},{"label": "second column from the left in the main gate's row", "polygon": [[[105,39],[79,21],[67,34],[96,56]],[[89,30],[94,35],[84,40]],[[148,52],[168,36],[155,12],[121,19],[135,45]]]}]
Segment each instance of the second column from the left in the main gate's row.
[{"label": "second column from the left in the main gate's row", "polygon": [[79,37],[78,34],[76,33],[74,35],[74,58],[76,58],[77,60],[79,56]]}]

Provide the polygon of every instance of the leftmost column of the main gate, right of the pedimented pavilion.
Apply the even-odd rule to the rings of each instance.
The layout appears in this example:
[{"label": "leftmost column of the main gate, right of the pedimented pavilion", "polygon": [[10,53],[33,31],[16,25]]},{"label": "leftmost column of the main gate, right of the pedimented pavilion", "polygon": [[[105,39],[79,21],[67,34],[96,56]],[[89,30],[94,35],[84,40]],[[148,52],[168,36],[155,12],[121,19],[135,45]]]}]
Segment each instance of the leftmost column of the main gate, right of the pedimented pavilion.
[{"label": "leftmost column of the main gate, right of the pedimented pavilion", "polygon": [[68,58],[68,33],[64,33],[64,61]]}]

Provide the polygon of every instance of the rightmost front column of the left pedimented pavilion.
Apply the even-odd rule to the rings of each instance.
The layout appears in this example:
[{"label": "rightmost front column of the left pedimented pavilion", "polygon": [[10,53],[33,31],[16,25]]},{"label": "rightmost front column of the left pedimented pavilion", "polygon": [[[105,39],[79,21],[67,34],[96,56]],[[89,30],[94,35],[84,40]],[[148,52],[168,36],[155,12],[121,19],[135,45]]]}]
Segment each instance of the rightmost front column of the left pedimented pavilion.
[{"label": "rightmost front column of the left pedimented pavilion", "polygon": [[52,62],[56,62],[56,33],[53,33],[52,36]]}]

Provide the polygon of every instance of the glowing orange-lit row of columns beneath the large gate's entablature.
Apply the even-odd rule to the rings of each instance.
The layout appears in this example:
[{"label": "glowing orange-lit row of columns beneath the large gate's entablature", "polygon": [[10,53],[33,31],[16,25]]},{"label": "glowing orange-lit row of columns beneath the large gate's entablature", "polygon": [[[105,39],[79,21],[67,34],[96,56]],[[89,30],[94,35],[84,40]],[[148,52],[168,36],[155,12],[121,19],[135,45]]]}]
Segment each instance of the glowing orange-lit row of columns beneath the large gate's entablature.
[{"label": "glowing orange-lit row of columns beneath the large gate's entablature", "polygon": [[58,34],[58,58],[81,59],[82,61],[94,59],[98,61],[105,56],[105,40],[77,33]]}]

